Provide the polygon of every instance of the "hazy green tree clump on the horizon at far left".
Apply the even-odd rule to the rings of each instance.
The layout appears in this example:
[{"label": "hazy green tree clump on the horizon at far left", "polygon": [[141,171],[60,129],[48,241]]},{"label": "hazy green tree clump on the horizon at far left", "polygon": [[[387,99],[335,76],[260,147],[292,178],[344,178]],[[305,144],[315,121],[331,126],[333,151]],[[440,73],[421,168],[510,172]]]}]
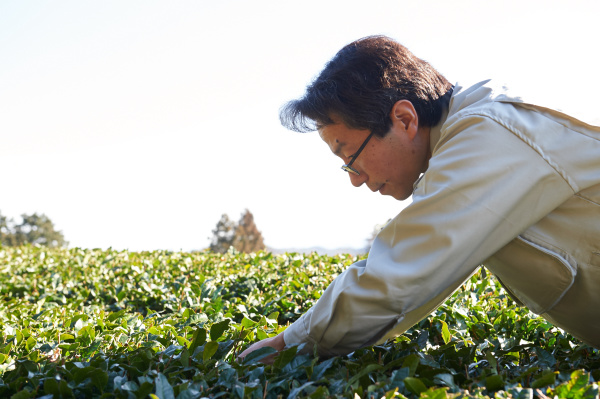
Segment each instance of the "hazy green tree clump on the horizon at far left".
[{"label": "hazy green tree clump on the horizon at far left", "polygon": [[62,232],[54,228],[50,218],[44,214],[22,214],[21,223],[0,214],[0,241],[2,245],[19,246],[26,243],[62,247],[68,245]]}]

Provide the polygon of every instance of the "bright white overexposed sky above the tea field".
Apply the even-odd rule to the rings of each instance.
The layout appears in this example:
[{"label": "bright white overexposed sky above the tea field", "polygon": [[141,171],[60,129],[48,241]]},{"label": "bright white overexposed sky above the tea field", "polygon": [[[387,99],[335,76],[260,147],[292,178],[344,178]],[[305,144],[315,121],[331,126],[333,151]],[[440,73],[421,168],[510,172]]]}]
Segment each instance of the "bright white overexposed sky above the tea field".
[{"label": "bright white overexposed sky above the tea field", "polygon": [[249,209],[270,248],[362,248],[408,201],[355,188],[279,109],[384,34],[451,82],[600,120],[596,0],[0,2],[0,212],[70,247],[197,250]]}]

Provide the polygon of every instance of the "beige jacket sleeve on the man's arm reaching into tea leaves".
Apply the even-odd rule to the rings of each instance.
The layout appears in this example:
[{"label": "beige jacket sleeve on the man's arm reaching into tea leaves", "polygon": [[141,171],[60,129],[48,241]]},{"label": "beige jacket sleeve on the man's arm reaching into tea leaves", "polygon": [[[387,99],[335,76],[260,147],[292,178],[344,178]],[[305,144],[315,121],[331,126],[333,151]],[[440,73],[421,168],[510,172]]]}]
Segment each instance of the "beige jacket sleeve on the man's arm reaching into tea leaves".
[{"label": "beige jacket sleeve on the man's arm reaching into tea leaves", "polygon": [[331,356],[403,333],[573,193],[510,126],[485,113],[449,119],[413,202],[285,330],[286,344]]}]

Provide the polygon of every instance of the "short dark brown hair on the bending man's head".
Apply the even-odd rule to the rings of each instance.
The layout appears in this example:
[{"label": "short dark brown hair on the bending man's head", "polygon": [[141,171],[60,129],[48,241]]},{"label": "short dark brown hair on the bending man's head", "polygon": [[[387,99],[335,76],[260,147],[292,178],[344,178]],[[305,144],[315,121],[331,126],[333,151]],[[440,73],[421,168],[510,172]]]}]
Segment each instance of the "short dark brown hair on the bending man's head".
[{"label": "short dark brown hair on the bending man's head", "polygon": [[353,129],[384,136],[397,101],[415,107],[420,126],[442,116],[442,97],[452,85],[431,65],[385,36],[369,36],[342,48],[306,88],[303,97],[285,104],[279,117],[297,132],[333,124],[332,116]]}]

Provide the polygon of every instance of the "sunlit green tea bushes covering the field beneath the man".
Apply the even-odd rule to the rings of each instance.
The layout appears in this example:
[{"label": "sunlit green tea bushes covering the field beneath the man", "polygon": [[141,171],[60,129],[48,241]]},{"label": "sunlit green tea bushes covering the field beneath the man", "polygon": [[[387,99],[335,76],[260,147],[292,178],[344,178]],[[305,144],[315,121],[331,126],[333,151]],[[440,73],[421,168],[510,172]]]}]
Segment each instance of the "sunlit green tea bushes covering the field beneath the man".
[{"label": "sunlit green tea bushes covering the field beneath the man", "polygon": [[357,258],[0,247],[2,398],[595,398],[600,351],[485,270],[344,357],[269,349]]}]

